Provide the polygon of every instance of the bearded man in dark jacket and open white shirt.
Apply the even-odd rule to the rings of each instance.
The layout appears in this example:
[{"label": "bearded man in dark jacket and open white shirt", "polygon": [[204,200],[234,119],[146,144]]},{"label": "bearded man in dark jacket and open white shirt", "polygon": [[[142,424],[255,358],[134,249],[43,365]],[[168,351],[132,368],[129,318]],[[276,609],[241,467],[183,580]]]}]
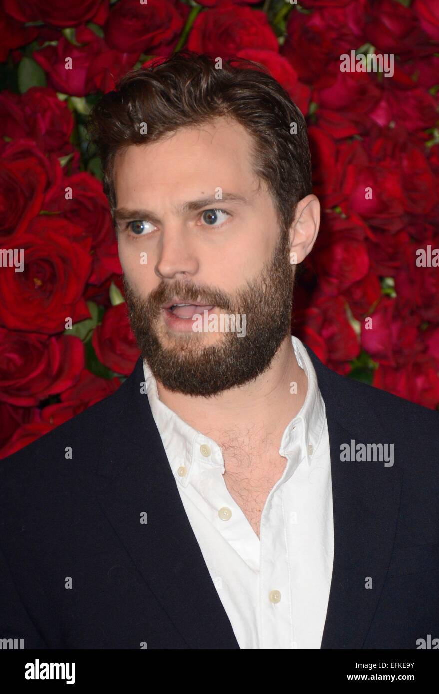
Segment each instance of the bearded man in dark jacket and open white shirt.
[{"label": "bearded man in dark jacket and open white shirt", "polygon": [[174,54],[92,113],[143,358],[1,464],[0,635],[417,648],[439,636],[438,414],[290,334],[320,221],[306,126],[264,71],[217,67]]}]

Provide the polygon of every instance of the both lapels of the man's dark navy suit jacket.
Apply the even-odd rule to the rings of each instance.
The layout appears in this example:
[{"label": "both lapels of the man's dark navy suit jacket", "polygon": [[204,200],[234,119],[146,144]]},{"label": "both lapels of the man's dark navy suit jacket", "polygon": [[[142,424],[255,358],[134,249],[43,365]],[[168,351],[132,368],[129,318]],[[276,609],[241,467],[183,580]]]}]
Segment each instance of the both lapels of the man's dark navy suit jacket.
[{"label": "both lapels of the man's dark navy suit jacket", "polygon": [[[321,648],[361,648],[395,536],[401,487],[397,442],[386,440],[367,391],[306,350],[325,404],[331,452],[334,560]],[[141,393],[143,382],[140,358],[108,398],[94,475],[97,498],[188,648],[239,648],[186,516],[147,394]],[[340,462],[340,445],[351,439],[395,443],[395,465]],[[147,523],[140,523],[144,513]]]}]

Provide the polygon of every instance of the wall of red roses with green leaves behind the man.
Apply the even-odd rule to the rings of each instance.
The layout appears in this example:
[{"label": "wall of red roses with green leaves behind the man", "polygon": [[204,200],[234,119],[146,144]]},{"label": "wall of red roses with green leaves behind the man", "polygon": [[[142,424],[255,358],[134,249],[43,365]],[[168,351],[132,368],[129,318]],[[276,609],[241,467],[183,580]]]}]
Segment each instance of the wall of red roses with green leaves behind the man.
[{"label": "wall of red roses with green leaves behind the man", "polygon": [[[126,71],[183,46],[262,63],[306,115],[323,214],[295,334],[334,371],[439,409],[439,267],[415,263],[439,248],[437,0],[3,0],[0,38],[0,248],[26,256],[0,267],[0,457],[138,358],[85,124]],[[391,54],[392,77],[340,71],[350,51]]]}]

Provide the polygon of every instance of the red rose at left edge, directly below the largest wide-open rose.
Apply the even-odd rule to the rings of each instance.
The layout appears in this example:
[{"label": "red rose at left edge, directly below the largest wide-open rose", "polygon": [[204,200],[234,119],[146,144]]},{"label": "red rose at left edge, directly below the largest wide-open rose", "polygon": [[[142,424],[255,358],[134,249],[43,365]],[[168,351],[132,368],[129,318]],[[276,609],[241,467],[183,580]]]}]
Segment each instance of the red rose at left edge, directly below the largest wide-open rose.
[{"label": "red rose at left edge, directly below the largest wide-open rose", "polygon": [[84,346],[74,335],[40,335],[0,328],[0,400],[38,405],[72,386],[84,368]]}]

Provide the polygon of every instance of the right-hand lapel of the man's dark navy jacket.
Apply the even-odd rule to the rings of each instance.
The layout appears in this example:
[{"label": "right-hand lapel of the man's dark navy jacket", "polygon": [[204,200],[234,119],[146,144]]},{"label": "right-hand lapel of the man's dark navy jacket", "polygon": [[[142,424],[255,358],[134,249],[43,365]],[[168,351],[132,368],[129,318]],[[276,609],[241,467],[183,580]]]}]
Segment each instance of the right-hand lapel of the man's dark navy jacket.
[{"label": "right-hand lapel of the man's dark navy jacket", "polygon": [[[328,369],[306,346],[317,375],[331,452],[334,559],[321,648],[362,648],[390,563],[401,492],[401,457],[361,384]],[[393,443],[394,465],[340,462],[340,446]],[[366,587],[370,586],[370,587]]]}]

